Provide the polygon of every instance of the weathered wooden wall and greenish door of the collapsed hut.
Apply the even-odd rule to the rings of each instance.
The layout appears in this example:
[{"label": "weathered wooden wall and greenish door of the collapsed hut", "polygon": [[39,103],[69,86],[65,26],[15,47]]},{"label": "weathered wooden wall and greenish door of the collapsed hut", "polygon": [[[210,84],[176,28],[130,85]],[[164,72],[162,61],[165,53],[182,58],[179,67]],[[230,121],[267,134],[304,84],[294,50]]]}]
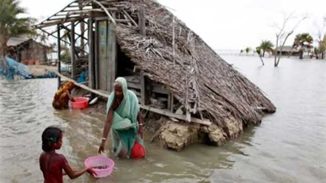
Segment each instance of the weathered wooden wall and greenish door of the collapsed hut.
[{"label": "weathered wooden wall and greenish door of the collapsed hut", "polygon": [[124,77],[128,89],[132,90],[141,104],[154,108],[173,111],[176,102],[168,88],[148,79],[141,68],[135,66],[116,42],[114,24],[107,17],[89,20],[89,27],[95,31],[89,33],[90,54],[88,57],[89,87],[110,93],[114,90],[117,77]]}]

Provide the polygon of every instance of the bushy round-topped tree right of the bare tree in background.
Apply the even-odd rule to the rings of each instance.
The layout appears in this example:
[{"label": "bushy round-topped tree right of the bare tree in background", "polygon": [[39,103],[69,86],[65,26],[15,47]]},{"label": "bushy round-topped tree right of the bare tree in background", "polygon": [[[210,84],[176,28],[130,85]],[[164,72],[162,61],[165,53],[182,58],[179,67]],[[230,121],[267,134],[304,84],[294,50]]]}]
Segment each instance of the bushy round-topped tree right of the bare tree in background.
[{"label": "bushy round-topped tree right of the bare tree in background", "polygon": [[298,48],[300,50],[300,59],[303,58],[304,51],[306,49],[311,48],[311,44],[313,43],[313,38],[309,35],[309,33],[298,34],[295,36],[293,47]]}]

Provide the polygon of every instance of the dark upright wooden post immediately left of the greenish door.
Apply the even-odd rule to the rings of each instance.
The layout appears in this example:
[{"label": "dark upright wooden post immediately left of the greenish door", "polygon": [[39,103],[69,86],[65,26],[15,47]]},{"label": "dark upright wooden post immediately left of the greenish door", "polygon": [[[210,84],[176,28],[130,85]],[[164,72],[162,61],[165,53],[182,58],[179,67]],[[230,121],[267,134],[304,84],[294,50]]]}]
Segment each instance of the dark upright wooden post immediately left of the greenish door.
[{"label": "dark upright wooden post immediately left of the greenish door", "polygon": [[89,56],[88,56],[88,85],[92,89],[95,89],[95,68],[94,68],[94,32],[93,32],[93,19],[88,20],[88,39],[89,39]]}]

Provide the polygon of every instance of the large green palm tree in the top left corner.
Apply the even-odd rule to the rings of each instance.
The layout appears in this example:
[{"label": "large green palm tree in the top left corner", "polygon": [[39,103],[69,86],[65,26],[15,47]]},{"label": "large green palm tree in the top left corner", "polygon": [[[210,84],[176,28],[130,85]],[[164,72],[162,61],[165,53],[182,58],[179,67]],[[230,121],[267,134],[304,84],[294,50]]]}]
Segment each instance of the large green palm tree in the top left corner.
[{"label": "large green palm tree in the top left corner", "polygon": [[3,56],[8,54],[7,42],[10,38],[35,34],[31,29],[35,19],[19,18],[23,13],[26,10],[19,6],[18,0],[0,0],[0,54]]}]

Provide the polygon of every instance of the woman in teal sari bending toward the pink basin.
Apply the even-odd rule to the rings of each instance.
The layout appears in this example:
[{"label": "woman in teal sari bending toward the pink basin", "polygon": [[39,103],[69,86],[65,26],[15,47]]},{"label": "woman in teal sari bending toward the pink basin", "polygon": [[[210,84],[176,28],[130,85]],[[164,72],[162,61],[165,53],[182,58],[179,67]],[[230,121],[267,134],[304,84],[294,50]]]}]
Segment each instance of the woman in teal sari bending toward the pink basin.
[{"label": "woman in teal sari bending toward the pink basin", "polygon": [[98,153],[104,151],[109,131],[116,156],[130,158],[131,149],[135,142],[144,147],[144,124],[138,98],[131,90],[128,90],[127,81],[122,77],[116,79],[114,92],[107,100],[106,122]]}]

